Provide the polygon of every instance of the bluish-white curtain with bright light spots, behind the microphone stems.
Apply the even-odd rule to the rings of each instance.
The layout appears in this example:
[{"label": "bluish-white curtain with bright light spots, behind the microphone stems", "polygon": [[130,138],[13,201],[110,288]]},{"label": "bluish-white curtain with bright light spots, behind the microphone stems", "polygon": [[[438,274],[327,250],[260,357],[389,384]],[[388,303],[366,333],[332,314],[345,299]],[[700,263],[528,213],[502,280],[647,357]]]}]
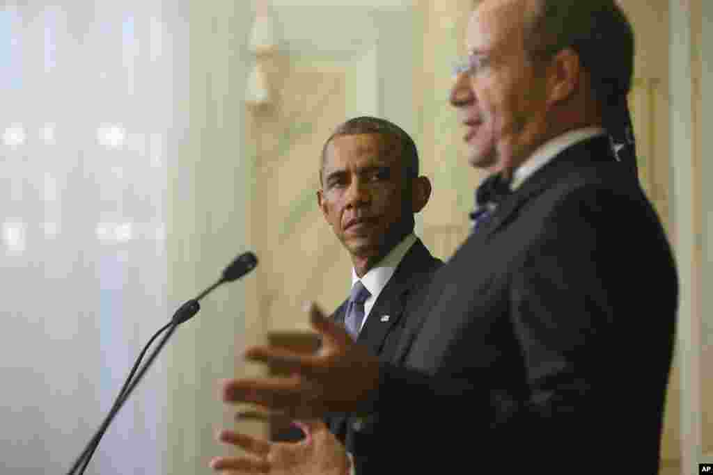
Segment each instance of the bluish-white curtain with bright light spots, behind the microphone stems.
[{"label": "bluish-white curtain with bright light spots, behind the microphone stems", "polygon": [[[0,6],[0,472],[63,474],[168,321],[188,0]],[[190,296],[187,296],[187,298]],[[161,474],[165,359],[87,474]]]}]

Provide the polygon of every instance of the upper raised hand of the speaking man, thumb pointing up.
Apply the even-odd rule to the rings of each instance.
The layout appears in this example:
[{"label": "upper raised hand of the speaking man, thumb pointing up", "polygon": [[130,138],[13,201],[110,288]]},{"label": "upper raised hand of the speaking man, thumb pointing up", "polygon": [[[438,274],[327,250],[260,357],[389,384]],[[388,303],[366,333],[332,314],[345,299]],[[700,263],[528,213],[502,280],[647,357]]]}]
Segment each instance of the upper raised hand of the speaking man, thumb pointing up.
[{"label": "upper raised hand of the speaking man, thumb pointing up", "polygon": [[356,412],[379,382],[379,360],[357,345],[339,323],[316,305],[309,308],[312,328],[322,337],[316,353],[297,353],[275,346],[250,348],[247,360],[287,369],[290,377],[225,380],[225,402],[250,402],[276,409],[292,419],[324,417],[329,412]]}]

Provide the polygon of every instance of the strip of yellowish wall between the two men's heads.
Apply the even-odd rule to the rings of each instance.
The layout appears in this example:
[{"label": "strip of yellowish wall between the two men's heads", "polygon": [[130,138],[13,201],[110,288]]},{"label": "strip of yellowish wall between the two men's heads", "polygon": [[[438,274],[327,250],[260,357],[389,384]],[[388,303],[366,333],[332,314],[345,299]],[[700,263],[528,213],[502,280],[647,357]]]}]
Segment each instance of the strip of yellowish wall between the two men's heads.
[{"label": "strip of yellowish wall between the two men's heads", "polygon": [[[420,150],[424,172],[431,177],[434,195],[423,212],[424,241],[445,259],[468,234],[468,212],[482,172],[468,167],[462,130],[448,104],[453,60],[465,51],[464,38],[471,0],[416,2],[423,31],[423,63],[414,71],[419,117]],[[424,33],[425,32],[425,33]]]}]

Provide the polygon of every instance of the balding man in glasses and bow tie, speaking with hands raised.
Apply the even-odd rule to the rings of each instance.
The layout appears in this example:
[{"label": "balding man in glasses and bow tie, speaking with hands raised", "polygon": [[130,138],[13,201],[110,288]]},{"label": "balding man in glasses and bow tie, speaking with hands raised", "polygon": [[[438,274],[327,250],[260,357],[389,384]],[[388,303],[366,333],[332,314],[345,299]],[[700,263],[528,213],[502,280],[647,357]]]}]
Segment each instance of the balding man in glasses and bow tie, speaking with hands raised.
[{"label": "balding man in glasses and bow tie, speaking with hands raised", "polygon": [[364,474],[655,474],[678,288],[625,132],[630,24],[614,0],[483,0],[467,43],[451,103],[493,174],[393,360],[312,308],[319,354],[247,351],[299,378],[231,380],[222,398],[375,414]]}]

